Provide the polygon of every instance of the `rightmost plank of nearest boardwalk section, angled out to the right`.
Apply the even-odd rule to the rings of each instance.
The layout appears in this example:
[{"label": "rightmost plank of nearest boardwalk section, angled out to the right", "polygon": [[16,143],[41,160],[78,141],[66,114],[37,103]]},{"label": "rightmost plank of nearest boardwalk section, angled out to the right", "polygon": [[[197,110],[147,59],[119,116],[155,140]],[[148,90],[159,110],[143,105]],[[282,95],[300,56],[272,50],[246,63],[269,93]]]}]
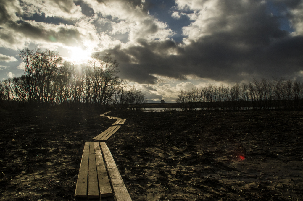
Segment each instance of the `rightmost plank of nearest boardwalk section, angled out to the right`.
[{"label": "rightmost plank of nearest boardwalk section, angled out to the right", "polygon": [[112,157],[111,152],[109,151],[105,142],[100,142],[101,149],[105,158],[105,163],[107,165],[107,170],[109,177],[112,181],[112,186],[115,192],[117,201],[132,201],[131,196],[129,195],[125,184],[122,180],[122,177],[119,173],[117,165]]}]

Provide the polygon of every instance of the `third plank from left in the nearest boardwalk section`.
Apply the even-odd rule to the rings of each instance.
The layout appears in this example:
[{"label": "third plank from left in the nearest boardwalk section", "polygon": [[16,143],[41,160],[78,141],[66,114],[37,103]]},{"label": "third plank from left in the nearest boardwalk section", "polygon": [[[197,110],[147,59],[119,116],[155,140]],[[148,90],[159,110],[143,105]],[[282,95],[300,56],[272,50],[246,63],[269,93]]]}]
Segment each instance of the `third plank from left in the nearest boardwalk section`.
[{"label": "third plank from left in the nearest boardwalk section", "polygon": [[98,173],[98,181],[100,188],[100,196],[112,196],[112,187],[109,183],[108,175],[105,169],[105,164],[103,161],[102,153],[98,142],[95,142],[95,156],[96,156],[96,165]]}]

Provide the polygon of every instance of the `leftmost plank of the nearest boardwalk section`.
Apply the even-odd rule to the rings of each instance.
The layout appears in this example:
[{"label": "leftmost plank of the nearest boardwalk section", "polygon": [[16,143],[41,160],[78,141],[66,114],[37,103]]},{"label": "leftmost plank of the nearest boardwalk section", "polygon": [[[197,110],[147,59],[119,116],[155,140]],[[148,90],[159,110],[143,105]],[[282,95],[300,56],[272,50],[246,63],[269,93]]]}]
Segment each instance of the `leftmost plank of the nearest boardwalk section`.
[{"label": "leftmost plank of the nearest boardwalk section", "polygon": [[87,197],[89,142],[85,142],[80,164],[75,197]]}]

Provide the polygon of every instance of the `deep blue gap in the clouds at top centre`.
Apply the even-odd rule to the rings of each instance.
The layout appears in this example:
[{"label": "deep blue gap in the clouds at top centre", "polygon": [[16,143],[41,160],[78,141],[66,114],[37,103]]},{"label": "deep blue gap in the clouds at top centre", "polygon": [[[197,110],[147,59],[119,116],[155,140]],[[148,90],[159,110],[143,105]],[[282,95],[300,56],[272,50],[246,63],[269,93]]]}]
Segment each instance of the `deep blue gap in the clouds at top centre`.
[{"label": "deep blue gap in the clouds at top centre", "polygon": [[[180,18],[172,18],[171,15],[176,11],[174,9],[175,1],[171,0],[145,0],[147,9],[150,15],[158,18],[160,21],[166,22],[168,28],[172,29],[176,34],[173,38],[176,42],[181,42],[184,38],[182,35],[182,28],[188,26],[191,21],[185,15],[179,15]],[[185,12],[185,11],[182,11]],[[185,13],[191,13],[187,11]]]}]

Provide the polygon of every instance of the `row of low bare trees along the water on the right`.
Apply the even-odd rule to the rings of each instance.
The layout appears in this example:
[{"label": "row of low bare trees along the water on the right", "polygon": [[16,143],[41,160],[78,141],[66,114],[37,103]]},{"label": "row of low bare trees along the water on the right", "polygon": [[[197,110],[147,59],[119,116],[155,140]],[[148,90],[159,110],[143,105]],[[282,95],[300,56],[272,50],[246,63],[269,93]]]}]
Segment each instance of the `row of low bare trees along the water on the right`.
[{"label": "row of low bare trees along the water on the right", "polygon": [[303,83],[300,81],[254,79],[229,86],[208,85],[181,91],[176,102],[181,110],[303,109]]}]

